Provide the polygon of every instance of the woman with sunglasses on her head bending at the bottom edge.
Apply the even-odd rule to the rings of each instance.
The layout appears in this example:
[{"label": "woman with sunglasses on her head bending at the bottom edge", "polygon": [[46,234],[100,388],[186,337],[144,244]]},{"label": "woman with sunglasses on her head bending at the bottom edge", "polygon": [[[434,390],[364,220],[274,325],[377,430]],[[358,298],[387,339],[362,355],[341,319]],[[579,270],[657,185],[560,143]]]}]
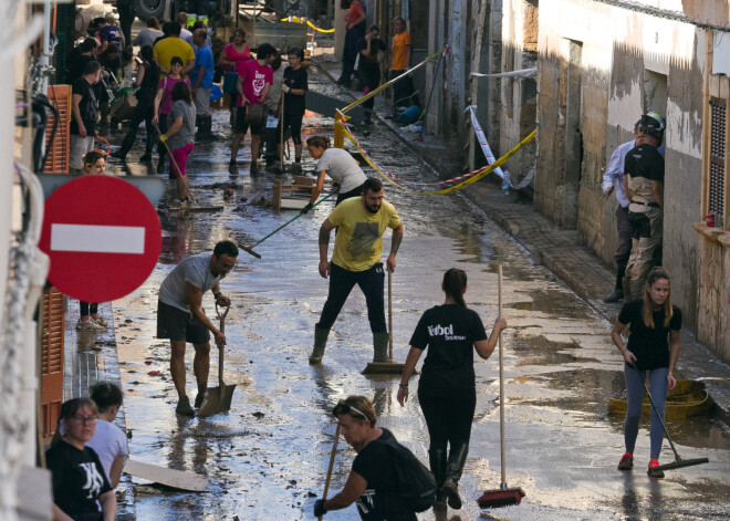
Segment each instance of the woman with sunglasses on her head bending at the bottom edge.
[{"label": "woman with sunglasses on her head bending at the bottom edge", "polygon": [[385,444],[395,439],[388,429],[376,427],[375,409],[366,396],[348,396],[335,406],[342,436],[355,449],[357,456],[343,488],[332,499],[317,500],[314,515],[330,510],[341,510],[357,501],[357,512],[363,521],[416,521],[416,514],[398,494],[398,477],[395,459]]}]

